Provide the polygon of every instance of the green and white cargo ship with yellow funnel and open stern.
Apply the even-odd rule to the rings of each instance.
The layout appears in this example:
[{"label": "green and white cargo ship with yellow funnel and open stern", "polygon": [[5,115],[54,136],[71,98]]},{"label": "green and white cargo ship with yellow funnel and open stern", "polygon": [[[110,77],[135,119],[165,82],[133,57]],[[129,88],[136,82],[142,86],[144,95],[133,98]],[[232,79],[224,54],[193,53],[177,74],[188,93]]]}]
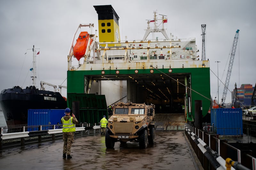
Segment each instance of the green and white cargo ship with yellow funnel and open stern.
[{"label": "green and white cargo ship with yellow funnel and open stern", "polygon": [[[99,121],[90,119],[99,109],[92,111],[89,103],[90,97],[98,95],[104,95],[107,105],[154,104],[156,114],[184,113],[187,122],[202,118],[210,122],[210,61],[199,59],[195,38],[169,37],[164,25],[172,19],[157,17],[154,11],[153,18],[145,18],[143,37],[121,40],[119,16],[112,5],[93,7],[98,13],[98,32],[93,32],[93,23],[80,24],[68,54],[68,106],[72,108],[72,101],[80,102],[81,122]],[[89,30],[90,40],[84,55],[76,58],[75,40],[82,29]],[[104,108],[106,103],[97,107]]]}]

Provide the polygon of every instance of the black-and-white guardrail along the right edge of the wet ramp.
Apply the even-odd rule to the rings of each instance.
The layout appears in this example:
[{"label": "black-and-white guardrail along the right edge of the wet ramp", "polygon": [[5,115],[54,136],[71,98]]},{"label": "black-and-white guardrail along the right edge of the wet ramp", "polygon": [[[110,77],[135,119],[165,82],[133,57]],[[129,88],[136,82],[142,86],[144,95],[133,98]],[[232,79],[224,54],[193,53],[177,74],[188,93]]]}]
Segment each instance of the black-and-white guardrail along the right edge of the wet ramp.
[{"label": "black-and-white guardrail along the right edge of the wet ramp", "polygon": [[[249,155],[248,152],[243,151],[243,156],[250,157],[251,163],[246,163],[246,166],[244,166],[241,164],[241,162],[243,163],[243,161],[245,160],[241,160],[241,151],[233,147],[232,145],[229,145],[227,143],[227,140],[219,139],[217,138],[216,135],[207,134],[204,131],[190,125],[189,123],[185,123],[184,127],[185,133],[190,141],[190,144],[192,145],[194,151],[196,152],[196,155],[204,169],[211,169],[211,167],[213,169],[226,169],[225,167],[227,167],[227,162],[224,159],[228,158],[229,148],[229,151],[233,150],[237,153],[237,155],[233,154],[232,157],[233,159],[237,160],[236,164],[239,164],[239,169],[241,169],[242,167],[243,170],[248,168],[256,170],[256,159]],[[215,160],[212,158],[214,158]],[[236,169],[238,168],[236,167]]]}]

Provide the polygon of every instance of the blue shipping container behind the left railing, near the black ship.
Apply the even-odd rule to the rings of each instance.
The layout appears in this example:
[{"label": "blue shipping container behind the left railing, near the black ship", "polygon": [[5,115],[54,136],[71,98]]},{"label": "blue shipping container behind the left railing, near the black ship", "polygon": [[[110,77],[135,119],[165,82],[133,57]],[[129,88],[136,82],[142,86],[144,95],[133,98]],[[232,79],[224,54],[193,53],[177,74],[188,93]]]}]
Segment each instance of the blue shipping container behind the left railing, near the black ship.
[{"label": "blue shipping container behind the left railing, near the black ship", "polygon": [[[60,124],[60,119],[65,115],[65,109],[28,109],[28,126]],[[49,127],[42,127],[47,130]],[[28,131],[38,130],[28,128]]]}]

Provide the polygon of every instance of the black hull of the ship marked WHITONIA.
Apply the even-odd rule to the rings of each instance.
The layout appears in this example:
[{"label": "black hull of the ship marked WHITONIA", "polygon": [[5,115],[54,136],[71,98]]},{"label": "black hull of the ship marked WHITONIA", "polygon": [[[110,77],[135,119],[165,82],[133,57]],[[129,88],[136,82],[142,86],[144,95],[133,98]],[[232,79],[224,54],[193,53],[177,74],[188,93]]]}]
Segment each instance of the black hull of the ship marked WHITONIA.
[{"label": "black hull of the ship marked WHITONIA", "polygon": [[28,124],[28,109],[65,109],[67,100],[59,92],[15,86],[2,90],[0,105],[7,126],[25,125]]}]

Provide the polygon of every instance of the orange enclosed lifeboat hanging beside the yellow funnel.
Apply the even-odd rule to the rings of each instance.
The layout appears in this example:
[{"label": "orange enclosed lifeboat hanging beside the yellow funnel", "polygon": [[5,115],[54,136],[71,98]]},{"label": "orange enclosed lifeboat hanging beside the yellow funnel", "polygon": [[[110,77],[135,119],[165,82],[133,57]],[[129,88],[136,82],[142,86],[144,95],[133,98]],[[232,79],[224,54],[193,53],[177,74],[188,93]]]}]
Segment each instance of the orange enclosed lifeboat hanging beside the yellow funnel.
[{"label": "orange enclosed lifeboat hanging beside the yellow funnel", "polygon": [[74,56],[78,61],[84,56],[89,40],[91,40],[91,44],[92,39],[90,38],[90,34],[88,32],[81,32],[79,34],[79,37],[76,40],[76,45],[73,49]]}]

